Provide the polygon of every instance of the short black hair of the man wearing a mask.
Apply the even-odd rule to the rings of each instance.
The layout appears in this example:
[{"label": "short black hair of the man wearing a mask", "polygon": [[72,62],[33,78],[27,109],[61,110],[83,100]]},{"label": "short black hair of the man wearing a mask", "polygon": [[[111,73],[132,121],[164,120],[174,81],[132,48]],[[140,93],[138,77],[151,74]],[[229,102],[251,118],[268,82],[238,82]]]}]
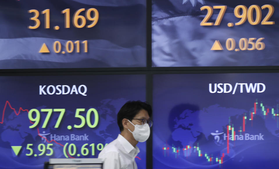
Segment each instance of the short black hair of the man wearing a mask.
[{"label": "short black hair of the man wearing a mask", "polygon": [[117,124],[119,126],[120,132],[124,130],[122,125],[123,119],[128,119],[132,121],[132,119],[140,112],[140,110],[146,110],[148,112],[149,117],[152,115],[151,106],[140,100],[138,101],[127,101],[117,113]]}]

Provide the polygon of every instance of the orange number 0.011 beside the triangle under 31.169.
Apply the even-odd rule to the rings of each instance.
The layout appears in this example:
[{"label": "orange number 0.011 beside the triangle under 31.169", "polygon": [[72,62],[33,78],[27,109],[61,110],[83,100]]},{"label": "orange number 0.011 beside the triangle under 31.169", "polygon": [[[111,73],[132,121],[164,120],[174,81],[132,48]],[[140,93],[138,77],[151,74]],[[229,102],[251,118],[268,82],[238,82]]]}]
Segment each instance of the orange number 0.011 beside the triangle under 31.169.
[{"label": "orange number 0.011 beside the triangle under 31.169", "polygon": [[[88,52],[88,41],[82,41],[81,42],[83,44],[83,52]],[[76,47],[74,47],[76,46]],[[80,52],[80,41],[67,41],[65,43],[65,50],[68,53],[72,53],[74,51],[74,48],[76,49],[76,52],[79,53]],[[60,53],[61,49],[62,49],[62,45],[60,41],[55,41],[52,44],[52,49],[55,53]]]}]

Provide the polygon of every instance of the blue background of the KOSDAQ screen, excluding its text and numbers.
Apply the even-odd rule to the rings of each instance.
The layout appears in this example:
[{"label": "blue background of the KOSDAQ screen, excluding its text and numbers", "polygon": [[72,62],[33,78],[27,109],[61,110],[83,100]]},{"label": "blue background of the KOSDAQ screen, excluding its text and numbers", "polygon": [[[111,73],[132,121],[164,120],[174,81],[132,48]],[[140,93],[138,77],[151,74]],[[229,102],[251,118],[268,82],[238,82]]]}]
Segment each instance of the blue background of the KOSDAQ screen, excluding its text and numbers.
[{"label": "blue background of the KOSDAQ screen, excluding its text and numbers", "polygon": [[[81,146],[85,143],[97,144],[110,143],[117,138],[120,133],[117,125],[117,112],[121,106],[128,100],[145,101],[145,75],[73,75],[73,76],[22,76],[22,77],[0,77],[0,107],[4,109],[6,101],[9,101],[12,108],[18,112],[19,108],[31,110],[33,108],[65,108],[66,112],[60,123],[59,128],[54,125],[59,116],[58,112],[53,112],[51,119],[46,128],[42,128],[47,113],[41,112],[41,121],[38,128],[29,128],[32,124],[28,119],[28,113],[21,111],[16,115],[13,110],[7,106],[3,118],[0,123],[0,168],[1,169],[39,169],[43,168],[43,163],[49,161],[49,158],[66,158],[63,154],[63,147],[58,143],[74,143],[77,147],[76,154],[81,154]],[[19,83],[20,82],[20,83]],[[87,96],[76,95],[39,95],[40,85],[86,85]],[[130,84],[133,84],[131,86]],[[46,91],[46,89],[45,89]],[[95,108],[99,113],[99,123],[95,128],[89,128],[85,124],[82,128],[67,129],[68,125],[79,125],[81,120],[75,118],[77,108],[85,108],[85,112],[80,115],[86,117],[86,112],[90,108]],[[1,111],[2,112],[2,111]],[[2,117],[2,113],[1,113]],[[35,113],[34,116],[35,117]],[[0,121],[1,122],[1,121]],[[94,123],[94,113],[91,114],[91,123]],[[56,135],[88,135],[88,141],[51,141],[50,134],[46,135],[48,141],[53,143],[53,155],[34,157],[39,154],[37,146],[41,143],[47,146],[47,141],[38,136],[40,134],[56,134]],[[34,150],[32,156],[26,156],[29,150],[26,150],[27,144],[33,144],[31,148]],[[75,158],[97,158],[99,150],[95,148],[95,155],[91,155],[91,147],[89,155]],[[22,146],[19,155],[15,155],[11,146]],[[68,145],[69,146],[69,145]],[[135,158],[139,169],[146,168],[146,143],[139,143],[139,158]],[[47,150],[46,153],[49,153]]]}]

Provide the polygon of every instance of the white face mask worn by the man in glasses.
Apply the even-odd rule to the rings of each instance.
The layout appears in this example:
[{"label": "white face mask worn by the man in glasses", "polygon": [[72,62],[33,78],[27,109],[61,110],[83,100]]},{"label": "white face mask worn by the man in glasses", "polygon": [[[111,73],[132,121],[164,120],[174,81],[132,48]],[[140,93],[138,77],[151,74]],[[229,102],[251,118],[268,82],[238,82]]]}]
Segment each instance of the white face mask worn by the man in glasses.
[{"label": "white face mask worn by the man in glasses", "polygon": [[[128,120],[130,122],[130,120]],[[130,122],[131,124],[133,124],[132,122]],[[134,125],[135,126],[135,130],[133,132],[131,132],[130,129],[128,129],[134,136],[135,140],[139,141],[139,142],[144,142],[148,139],[149,135],[150,135],[150,127],[149,125],[146,123],[144,125]]]}]

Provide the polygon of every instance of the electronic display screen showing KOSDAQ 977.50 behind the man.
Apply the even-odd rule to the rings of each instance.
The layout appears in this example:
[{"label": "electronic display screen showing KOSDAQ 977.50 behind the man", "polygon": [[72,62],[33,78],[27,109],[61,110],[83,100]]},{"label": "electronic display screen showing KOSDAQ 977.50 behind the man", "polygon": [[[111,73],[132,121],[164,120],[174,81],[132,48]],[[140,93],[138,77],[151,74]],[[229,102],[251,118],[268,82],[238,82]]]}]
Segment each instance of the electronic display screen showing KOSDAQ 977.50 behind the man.
[{"label": "electronic display screen showing KOSDAQ 977.50 behind the man", "polygon": [[[145,101],[145,85],[144,74],[0,77],[0,168],[98,158],[120,133],[120,108],[129,100]],[[146,143],[137,146],[135,161],[145,169]]]}]

